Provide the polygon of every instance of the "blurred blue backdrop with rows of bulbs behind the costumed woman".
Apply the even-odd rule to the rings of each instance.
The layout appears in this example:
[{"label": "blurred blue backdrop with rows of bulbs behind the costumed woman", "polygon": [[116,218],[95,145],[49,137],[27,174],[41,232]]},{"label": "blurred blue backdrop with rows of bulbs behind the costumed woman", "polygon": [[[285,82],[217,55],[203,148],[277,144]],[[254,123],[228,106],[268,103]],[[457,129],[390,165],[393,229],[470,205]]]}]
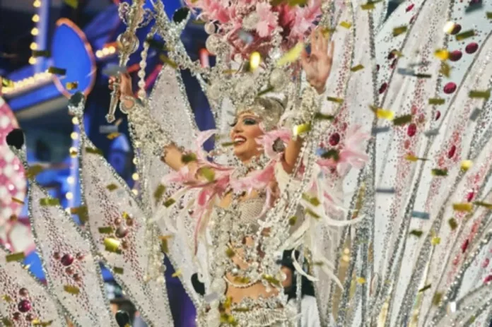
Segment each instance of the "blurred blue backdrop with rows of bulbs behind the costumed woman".
[{"label": "blurred blue backdrop with rows of bulbs behind the costumed woman", "polygon": [[[135,173],[133,151],[126,120],[118,112],[117,124],[107,124],[105,114],[110,103],[107,71],[117,64],[117,36],[125,26],[118,16],[120,0],[0,0],[0,242],[13,252],[24,251],[25,263],[40,280],[45,278],[30,232],[25,199],[23,167],[5,143],[14,128],[23,129],[27,141],[28,162],[43,170],[36,179],[60,199],[65,208],[80,203],[77,162],[71,148],[78,144],[78,124],[69,116],[69,95],[80,91],[88,97],[84,124],[86,133],[102,150],[110,164],[127,181],[135,194],[139,176]],[[147,6],[151,1],[147,0]],[[181,0],[165,0],[166,13],[183,6]],[[398,1],[390,2],[389,12]],[[152,24],[139,30],[143,43]],[[182,40],[194,60],[213,65],[205,49],[204,26],[190,20]],[[161,40],[156,39],[157,42]],[[149,52],[146,66],[146,89],[151,91],[163,66],[160,52]],[[33,55],[34,52],[34,55]],[[137,80],[139,51],[131,57],[128,71]],[[65,70],[50,73],[49,67]],[[189,102],[201,129],[213,127],[209,106],[197,81],[182,71]],[[136,85],[134,85],[136,90]],[[76,219],[76,218],[74,218]],[[176,326],[194,326],[194,307],[172,267],[166,272],[172,314]],[[122,308],[135,317],[134,326],[145,326],[127,301],[112,275],[103,268],[112,308]]]}]

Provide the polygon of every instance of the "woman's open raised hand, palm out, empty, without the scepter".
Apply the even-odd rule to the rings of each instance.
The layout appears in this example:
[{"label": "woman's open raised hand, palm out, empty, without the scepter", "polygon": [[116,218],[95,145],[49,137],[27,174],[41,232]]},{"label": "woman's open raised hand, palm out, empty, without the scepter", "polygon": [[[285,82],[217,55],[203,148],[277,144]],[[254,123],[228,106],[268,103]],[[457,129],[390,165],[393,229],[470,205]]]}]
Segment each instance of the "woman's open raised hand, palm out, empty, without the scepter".
[{"label": "woman's open raised hand, palm out, empty, without the scepter", "polygon": [[332,72],[333,51],[334,42],[329,43],[321,28],[316,28],[311,33],[311,53],[307,54],[306,49],[301,53],[300,63],[307,81],[318,93],[324,92],[324,85]]}]

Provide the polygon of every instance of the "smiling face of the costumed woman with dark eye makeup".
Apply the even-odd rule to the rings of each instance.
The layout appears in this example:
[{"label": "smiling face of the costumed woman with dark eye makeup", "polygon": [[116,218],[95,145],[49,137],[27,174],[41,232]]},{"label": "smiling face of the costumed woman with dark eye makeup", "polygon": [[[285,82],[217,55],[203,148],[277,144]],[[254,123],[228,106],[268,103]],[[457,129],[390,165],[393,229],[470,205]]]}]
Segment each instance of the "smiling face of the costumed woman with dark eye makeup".
[{"label": "smiling face of the costumed woman with dark eye makeup", "polygon": [[233,122],[230,139],[234,143],[234,154],[242,162],[247,162],[262,153],[256,141],[256,138],[263,135],[262,129],[259,128],[260,122],[257,116],[248,112],[240,114]]}]

